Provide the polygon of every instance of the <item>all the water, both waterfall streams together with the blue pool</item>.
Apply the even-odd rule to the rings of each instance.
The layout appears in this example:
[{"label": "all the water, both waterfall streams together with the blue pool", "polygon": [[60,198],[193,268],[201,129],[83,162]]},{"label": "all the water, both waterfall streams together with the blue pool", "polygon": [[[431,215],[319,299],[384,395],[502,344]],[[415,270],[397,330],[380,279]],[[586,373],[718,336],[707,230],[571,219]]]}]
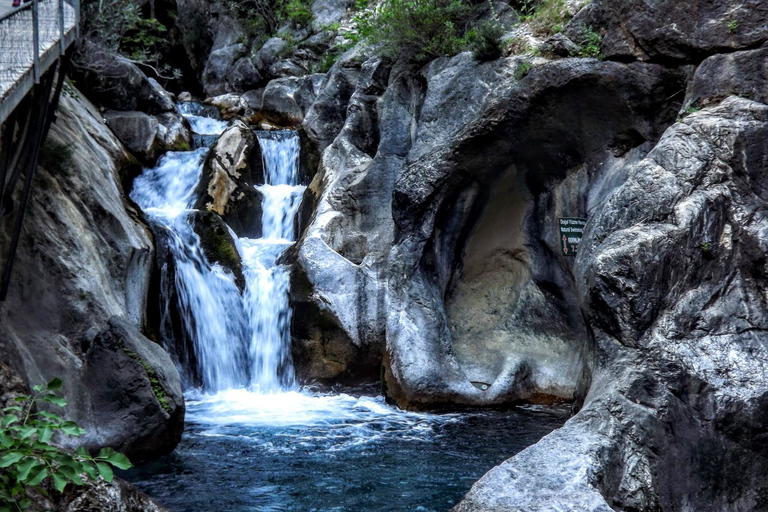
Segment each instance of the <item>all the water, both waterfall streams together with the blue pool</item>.
[{"label": "all the water, both waterfall streams together with the blue pool", "polygon": [[[256,132],[265,183],[262,238],[240,238],[245,289],[205,257],[191,210],[208,145],[226,123],[182,106],[199,149],[164,155],[131,197],[172,260],[163,265],[192,353],[171,351],[187,382],[176,451],[122,476],[173,512],[445,511],[486,471],[562,425],[558,408],[423,414],[374,388],[317,393],[295,382],[288,269],[295,238],[299,139]],[[234,235],[233,235],[234,236]],[[161,243],[161,242],[158,242]],[[170,266],[169,266],[170,265]],[[172,266],[172,270],[171,270]],[[181,353],[179,353],[181,352]]]}]

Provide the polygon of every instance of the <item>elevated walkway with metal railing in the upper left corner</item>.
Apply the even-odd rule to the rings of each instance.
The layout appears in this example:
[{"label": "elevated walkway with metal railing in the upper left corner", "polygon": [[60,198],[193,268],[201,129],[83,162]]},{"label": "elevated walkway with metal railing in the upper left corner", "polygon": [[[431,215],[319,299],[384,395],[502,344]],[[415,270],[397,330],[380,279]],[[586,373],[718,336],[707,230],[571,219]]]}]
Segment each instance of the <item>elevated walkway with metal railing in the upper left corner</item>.
[{"label": "elevated walkway with metal railing in the upper left corner", "polygon": [[31,0],[0,15],[0,123],[74,42],[79,20],[80,0]]}]

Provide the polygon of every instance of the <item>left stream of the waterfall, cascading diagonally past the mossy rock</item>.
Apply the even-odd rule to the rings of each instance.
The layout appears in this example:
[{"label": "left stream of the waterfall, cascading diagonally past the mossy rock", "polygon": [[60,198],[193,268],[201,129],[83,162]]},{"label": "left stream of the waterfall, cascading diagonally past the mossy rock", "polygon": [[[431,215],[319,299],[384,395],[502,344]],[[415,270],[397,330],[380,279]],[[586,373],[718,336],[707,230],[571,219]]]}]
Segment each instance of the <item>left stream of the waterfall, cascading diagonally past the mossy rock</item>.
[{"label": "left stream of the waterfall, cascading diagonally past the mossy rock", "polygon": [[206,389],[217,390],[247,382],[242,340],[248,319],[234,276],[208,262],[191,224],[190,208],[207,152],[165,154],[154,169],[136,178],[131,198],[149,216],[173,258],[175,306],[194,350],[177,354],[180,364],[196,360]]}]

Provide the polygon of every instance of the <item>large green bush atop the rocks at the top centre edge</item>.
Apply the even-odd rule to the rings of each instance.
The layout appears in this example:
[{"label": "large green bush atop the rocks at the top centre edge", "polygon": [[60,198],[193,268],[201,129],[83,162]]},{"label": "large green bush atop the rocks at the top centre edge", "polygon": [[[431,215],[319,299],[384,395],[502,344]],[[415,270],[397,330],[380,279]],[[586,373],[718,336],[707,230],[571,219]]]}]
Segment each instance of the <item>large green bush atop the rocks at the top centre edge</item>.
[{"label": "large green bush atop the rocks at the top centre edge", "polygon": [[422,62],[470,45],[469,13],[464,0],[385,0],[356,21],[359,37],[382,54]]}]

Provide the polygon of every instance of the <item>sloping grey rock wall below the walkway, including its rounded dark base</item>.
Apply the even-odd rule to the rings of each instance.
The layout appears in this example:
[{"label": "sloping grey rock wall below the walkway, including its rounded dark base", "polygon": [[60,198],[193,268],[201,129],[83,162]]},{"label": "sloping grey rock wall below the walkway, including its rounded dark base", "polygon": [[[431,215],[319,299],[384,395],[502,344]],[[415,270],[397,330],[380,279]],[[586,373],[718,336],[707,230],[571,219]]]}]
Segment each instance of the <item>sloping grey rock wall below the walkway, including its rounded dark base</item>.
[{"label": "sloping grey rock wall below the walkway, including its rounded dark base", "polygon": [[[121,188],[136,163],[74,89],[57,114],[0,304],[0,352],[30,388],[64,381],[56,412],[86,429],[79,443],[140,462],[176,446],[184,400],[170,358],[139,332],[154,249]],[[0,223],[3,255],[11,226]]]}]

